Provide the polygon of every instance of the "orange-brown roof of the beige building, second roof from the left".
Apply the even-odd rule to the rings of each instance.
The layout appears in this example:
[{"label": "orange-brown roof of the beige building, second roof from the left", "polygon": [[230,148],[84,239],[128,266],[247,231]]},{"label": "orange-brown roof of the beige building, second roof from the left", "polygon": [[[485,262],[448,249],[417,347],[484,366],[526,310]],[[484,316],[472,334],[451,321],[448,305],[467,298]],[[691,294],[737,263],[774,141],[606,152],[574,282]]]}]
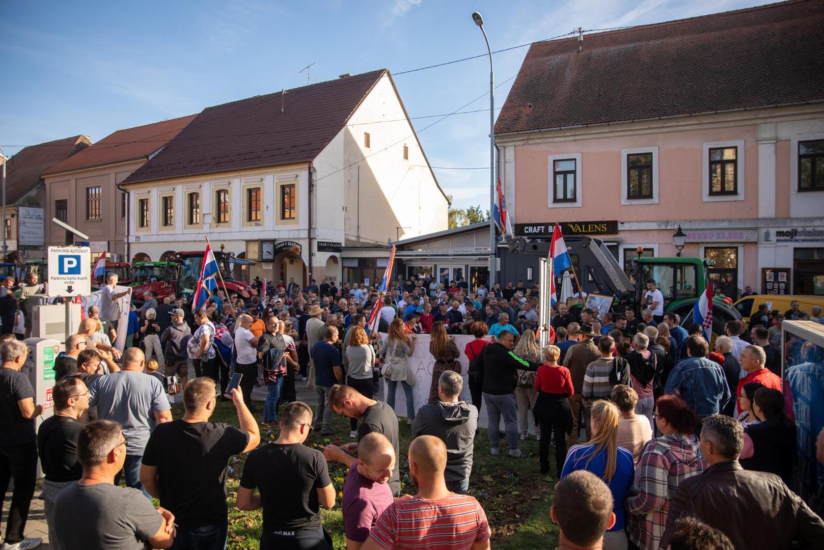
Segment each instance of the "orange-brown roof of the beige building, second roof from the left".
[{"label": "orange-brown roof of the beige building, second roof from the left", "polygon": [[44,176],[147,158],[157,149],[169,143],[169,140],[194,120],[195,116],[197,115],[162,120],[151,125],[136,126],[129,129],[119,129],[81,153],[67,158],[57,166],[49,169],[49,171],[44,172]]}]

